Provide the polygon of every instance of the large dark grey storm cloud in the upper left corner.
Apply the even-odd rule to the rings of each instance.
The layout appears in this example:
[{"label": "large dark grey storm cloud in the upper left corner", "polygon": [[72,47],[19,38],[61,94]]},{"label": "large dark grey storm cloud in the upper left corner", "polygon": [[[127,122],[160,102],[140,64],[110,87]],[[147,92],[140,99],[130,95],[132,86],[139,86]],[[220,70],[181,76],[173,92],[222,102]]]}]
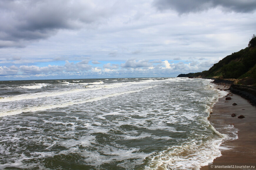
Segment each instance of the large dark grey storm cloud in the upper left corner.
[{"label": "large dark grey storm cloud in the upper left corner", "polygon": [[2,0],[0,47],[24,47],[31,40],[49,38],[60,29],[99,23],[108,10],[94,1]]}]

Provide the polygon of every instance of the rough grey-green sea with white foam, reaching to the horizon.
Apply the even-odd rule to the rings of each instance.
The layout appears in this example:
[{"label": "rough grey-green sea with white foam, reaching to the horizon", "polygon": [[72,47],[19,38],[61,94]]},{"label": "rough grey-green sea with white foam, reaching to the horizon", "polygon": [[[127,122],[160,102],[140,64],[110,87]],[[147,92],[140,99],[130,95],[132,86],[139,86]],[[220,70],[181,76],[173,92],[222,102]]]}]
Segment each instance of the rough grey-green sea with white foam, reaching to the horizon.
[{"label": "rough grey-green sea with white foam, reaching to the horizon", "polygon": [[0,81],[0,169],[200,169],[237,138],[208,120],[227,95],[211,82]]}]

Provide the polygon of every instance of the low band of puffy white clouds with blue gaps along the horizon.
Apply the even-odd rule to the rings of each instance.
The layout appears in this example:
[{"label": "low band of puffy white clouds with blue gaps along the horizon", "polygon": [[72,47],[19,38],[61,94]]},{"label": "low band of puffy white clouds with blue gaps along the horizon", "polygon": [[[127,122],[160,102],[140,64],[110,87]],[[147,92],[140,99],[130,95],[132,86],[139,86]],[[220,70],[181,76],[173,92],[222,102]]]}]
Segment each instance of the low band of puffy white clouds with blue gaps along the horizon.
[{"label": "low band of puffy white clouds with blue gaps along the horizon", "polygon": [[207,70],[215,62],[207,60],[205,62],[190,61],[189,63],[172,63],[168,60],[135,60],[130,59],[125,63],[119,64],[107,63],[100,67],[92,67],[89,65],[89,60],[81,62],[66,61],[65,65],[56,66],[48,65],[38,67],[35,65],[22,65],[19,68],[16,66],[0,67],[0,76],[8,79],[38,79],[38,77],[47,77],[48,79],[58,78],[94,78],[94,77],[176,77],[180,73],[200,72],[202,68]]}]

